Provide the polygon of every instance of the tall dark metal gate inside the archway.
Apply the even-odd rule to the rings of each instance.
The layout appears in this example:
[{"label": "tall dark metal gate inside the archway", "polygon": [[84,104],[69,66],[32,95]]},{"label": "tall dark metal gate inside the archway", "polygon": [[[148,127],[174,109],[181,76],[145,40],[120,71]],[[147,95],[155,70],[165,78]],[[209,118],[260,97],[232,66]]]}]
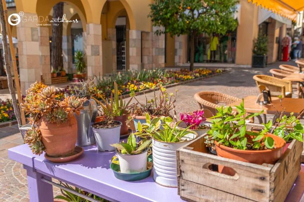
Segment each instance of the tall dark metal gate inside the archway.
[{"label": "tall dark metal gate inside the archway", "polygon": [[116,25],[117,70],[126,69],[126,25]]}]

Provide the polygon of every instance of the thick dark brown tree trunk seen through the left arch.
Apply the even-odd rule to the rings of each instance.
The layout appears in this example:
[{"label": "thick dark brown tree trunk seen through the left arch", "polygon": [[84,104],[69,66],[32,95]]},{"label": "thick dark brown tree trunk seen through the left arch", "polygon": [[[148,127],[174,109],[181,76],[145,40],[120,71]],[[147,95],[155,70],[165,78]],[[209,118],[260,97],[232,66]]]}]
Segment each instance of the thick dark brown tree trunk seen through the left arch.
[{"label": "thick dark brown tree trunk seen through the left arch", "polygon": [[[63,2],[57,3],[53,7],[53,19],[62,19],[63,16]],[[52,53],[51,63],[53,70],[63,68],[62,59],[62,22],[53,22],[52,27]]]}]

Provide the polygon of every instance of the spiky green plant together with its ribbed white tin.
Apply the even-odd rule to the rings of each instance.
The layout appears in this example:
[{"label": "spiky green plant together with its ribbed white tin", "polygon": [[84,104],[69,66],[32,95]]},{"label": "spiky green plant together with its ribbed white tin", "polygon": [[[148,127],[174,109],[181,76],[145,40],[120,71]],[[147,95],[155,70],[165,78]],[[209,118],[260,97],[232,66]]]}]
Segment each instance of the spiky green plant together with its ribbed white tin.
[{"label": "spiky green plant together with its ribbed white tin", "polygon": [[[138,123],[138,135],[152,137],[153,179],[166,187],[177,187],[176,150],[197,137],[197,133],[179,129],[172,118],[147,116],[146,123]],[[162,128],[162,129],[160,129]]]}]

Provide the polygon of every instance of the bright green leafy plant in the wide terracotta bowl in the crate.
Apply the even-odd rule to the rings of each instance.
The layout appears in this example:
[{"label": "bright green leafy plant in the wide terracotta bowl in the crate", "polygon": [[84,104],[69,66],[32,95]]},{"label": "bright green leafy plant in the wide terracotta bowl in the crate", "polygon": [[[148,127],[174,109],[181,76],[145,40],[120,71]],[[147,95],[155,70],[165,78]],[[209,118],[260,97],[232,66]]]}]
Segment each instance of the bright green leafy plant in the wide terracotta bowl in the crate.
[{"label": "bright green leafy plant in the wide terracotta bowl in the crate", "polygon": [[[232,115],[231,107],[217,108],[216,116],[211,117],[212,125],[208,131],[209,141],[213,138],[219,144],[229,146],[240,150],[266,150],[274,147],[274,140],[272,137],[265,136],[271,130],[272,122],[269,121],[264,125],[261,131],[247,131],[246,119],[258,116],[260,113],[253,113],[246,116],[244,109],[244,100],[240,106],[236,106],[238,114]],[[206,143],[210,143],[206,141]]]}]

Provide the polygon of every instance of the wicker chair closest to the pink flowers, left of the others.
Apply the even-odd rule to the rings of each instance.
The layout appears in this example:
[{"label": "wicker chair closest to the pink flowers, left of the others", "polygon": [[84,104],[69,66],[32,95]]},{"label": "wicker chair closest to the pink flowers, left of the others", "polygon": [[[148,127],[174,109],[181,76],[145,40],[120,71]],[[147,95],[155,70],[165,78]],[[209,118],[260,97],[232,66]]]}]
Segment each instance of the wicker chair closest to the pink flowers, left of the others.
[{"label": "wicker chair closest to the pink flowers, left of the others", "polygon": [[221,105],[225,106],[240,100],[240,98],[214,91],[200,91],[195,93],[194,99],[199,104],[199,108],[204,109],[204,116],[206,118],[215,116],[217,107],[220,107]]}]

